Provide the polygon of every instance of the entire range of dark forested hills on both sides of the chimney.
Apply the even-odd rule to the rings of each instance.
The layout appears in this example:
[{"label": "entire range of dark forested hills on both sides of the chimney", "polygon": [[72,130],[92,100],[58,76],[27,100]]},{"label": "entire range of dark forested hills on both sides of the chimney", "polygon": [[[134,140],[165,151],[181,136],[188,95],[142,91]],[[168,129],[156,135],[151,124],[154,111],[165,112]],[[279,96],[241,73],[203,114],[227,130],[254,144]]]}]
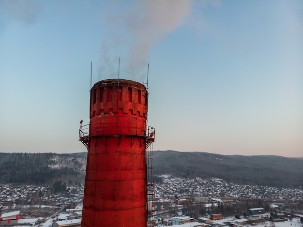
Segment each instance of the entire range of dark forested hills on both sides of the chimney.
[{"label": "entire range of dark forested hills on both sides of the chimney", "polygon": [[[0,183],[83,185],[87,152],[0,153]],[[227,182],[275,187],[303,186],[303,158],[154,151],[154,175],[221,178]]]}]

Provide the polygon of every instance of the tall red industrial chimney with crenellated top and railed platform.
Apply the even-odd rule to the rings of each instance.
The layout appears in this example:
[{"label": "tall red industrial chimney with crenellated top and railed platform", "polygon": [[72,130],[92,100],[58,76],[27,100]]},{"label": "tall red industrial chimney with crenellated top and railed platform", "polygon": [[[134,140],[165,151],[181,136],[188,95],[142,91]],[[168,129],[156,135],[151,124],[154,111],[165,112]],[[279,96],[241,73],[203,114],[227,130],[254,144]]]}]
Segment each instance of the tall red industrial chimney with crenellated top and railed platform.
[{"label": "tall red industrial chimney with crenellated top and railed platform", "polygon": [[132,80],[91,88],[89,132],[81,122],[79,135],[88,148],[81,227],[147,226],[147,103],[146,87]]}]

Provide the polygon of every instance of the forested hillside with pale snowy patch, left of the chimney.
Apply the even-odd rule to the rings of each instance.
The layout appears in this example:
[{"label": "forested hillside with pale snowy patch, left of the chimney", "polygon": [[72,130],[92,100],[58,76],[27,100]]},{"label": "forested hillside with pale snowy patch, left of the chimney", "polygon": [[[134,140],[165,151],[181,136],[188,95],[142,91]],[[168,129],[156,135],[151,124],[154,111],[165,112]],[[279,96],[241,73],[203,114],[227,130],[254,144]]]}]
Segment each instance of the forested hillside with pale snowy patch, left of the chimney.
[{"label": "forested hillside with pale snowy patch, left of the chimney", "polygon": [[56,153],[0,153],[0,183],[83,185],[86,157]]}]

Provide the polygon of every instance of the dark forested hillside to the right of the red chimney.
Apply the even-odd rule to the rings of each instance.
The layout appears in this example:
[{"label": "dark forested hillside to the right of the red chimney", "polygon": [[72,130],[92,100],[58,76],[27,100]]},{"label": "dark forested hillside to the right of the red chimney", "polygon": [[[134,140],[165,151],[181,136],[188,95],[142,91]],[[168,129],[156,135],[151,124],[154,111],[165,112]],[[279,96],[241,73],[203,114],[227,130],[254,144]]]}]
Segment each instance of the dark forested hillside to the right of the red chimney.
[{"label": "dark forested hillside to the right of the red chimney", "polygon": [[303,186],[303,158],[154,151],[154,174],[217,177],[227,182],[273,187]]}]

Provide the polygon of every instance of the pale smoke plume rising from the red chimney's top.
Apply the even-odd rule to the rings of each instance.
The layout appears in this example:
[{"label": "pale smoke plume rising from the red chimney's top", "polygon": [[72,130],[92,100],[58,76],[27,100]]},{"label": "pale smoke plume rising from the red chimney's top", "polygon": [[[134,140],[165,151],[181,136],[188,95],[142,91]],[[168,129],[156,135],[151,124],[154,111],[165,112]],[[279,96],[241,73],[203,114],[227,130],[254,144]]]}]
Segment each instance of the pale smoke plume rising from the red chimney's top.
[{"label": "pale smoke plume rising from the red chimney's top", "polygon": [[108,30],[102,39],[99,77],[142,78],[146,75],[152,47],[182,25],[191,14],[191,0],[137,0],[107,10]]}]

